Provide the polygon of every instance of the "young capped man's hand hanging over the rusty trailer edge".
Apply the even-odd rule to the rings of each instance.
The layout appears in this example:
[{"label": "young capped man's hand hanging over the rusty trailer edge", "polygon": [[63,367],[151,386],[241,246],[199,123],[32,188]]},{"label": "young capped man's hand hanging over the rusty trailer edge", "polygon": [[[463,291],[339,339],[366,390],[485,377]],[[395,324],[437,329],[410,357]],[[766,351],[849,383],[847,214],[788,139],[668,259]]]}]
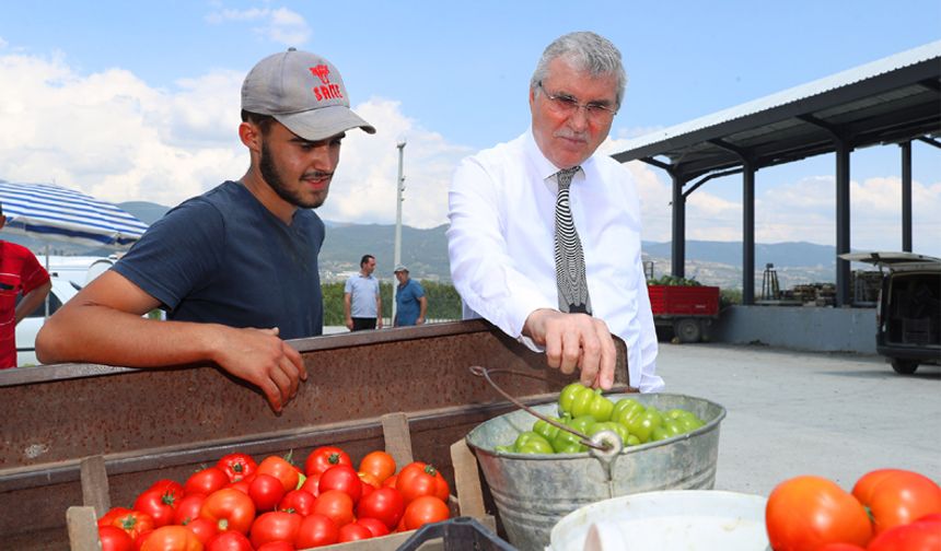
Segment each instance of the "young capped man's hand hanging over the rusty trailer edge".
[{"label": "young capped man's hand hanging over the rusty trailer edge", "polygon": [[274,329],[222,328],[216,363],[232,375],[253,383],[265,394],[275,412],[298,394],[299,380],[307,379],[301,354]]}]

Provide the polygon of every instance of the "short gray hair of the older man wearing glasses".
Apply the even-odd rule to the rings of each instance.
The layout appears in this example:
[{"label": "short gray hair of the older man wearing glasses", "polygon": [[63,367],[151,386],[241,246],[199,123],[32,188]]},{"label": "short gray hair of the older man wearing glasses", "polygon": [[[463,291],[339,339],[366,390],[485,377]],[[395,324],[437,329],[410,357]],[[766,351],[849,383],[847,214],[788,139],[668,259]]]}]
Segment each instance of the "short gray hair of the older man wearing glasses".
[{"label": "short gray hair of the older man wearing glasses", "polygon": [[546,46],[539,58],[530,89],[535,90],[549,74],[549,63],[556,58],[565,58],[572,68],[585,71],[592,77],[614,75],[617,81],[617,105],[624,98],[627,86],[627,73],[620,61],[620,51],[604,36],[590,31],[569,33],[559,36],[553,44]]}]

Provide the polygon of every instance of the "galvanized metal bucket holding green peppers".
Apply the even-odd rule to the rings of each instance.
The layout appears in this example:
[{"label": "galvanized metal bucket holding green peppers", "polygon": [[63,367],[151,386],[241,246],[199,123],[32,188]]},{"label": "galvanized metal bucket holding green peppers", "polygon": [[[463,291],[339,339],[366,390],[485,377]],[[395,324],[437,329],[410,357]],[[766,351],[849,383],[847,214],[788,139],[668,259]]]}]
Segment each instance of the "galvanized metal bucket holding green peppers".
[{"label": "galvanized metal bucket holding green peppers", "polygon": [[[682,408],[706,424],[679,436],[624,448],[611,462],[589,453],[524,455],[495,452],[532,429],[535,418],[520,410],[493,418],[467,434],[510,542],[522,551],[549,543],[553,527],[579,507],[655,490],[709,490],[716,483],[719,423],[725,408],[683,395],[609,395],[614,401],[634,398],[661,411]],[[534,408],[553,415],[556,403]]]}]

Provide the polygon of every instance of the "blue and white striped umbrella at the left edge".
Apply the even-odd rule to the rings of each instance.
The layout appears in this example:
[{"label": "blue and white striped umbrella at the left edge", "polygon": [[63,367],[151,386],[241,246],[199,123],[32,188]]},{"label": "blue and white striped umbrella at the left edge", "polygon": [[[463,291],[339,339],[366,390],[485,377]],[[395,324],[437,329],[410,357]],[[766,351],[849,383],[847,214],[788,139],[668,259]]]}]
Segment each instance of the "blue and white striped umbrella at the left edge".
[{"label": "blue and white striped umbrella at the left edge", "polygon": [[54,184],[0,180],[4,232],[115,249],[138,241],[147,224],[118,207]]}]

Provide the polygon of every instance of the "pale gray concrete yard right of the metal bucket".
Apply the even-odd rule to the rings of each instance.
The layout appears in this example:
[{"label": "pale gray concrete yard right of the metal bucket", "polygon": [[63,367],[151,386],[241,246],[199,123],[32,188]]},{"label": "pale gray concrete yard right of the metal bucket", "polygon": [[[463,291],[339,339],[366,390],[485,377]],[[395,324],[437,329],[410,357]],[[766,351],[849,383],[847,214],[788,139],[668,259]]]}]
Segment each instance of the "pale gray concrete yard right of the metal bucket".
[{"label": "pale gray concrete yard right of the metal bucket", "polygon": [[717,490],[767,496],[799,474],[849,490],[883,467],[941,480],[941,367],[901,376],[874,355],[667,342],[657,365],[664,391],[728,411]]}]

